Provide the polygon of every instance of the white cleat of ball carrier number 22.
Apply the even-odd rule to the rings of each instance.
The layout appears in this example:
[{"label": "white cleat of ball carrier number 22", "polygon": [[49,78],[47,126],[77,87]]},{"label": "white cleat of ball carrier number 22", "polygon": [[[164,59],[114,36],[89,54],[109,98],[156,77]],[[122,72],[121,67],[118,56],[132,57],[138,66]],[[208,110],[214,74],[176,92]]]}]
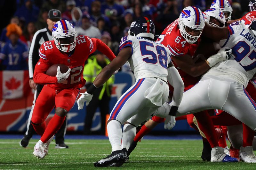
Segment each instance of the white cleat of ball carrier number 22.
[{"label": "white cleat of ball carrier number 22", "polygon": [[46,155],[48,155],[49,144],[51,143],[53,137],[54,136],[52,136],[46,143],[39,140],[34,147],[33,155],[39,159],[43,159]]}]

